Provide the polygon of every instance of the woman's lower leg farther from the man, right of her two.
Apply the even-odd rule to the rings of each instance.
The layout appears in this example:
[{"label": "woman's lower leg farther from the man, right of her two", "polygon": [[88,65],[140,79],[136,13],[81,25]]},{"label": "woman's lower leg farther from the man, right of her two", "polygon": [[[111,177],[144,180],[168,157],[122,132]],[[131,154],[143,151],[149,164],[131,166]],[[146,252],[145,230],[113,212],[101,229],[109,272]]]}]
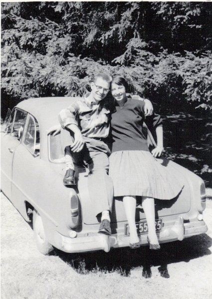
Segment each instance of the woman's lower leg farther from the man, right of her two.
[{"label": "woman's lower leg farther from the man, right of her two", "polygon": [[142,196],[142,207],[147,219],[148,236],[151,244],[158,244],[158,237],[155,230],[155,200],[152,197]]}]

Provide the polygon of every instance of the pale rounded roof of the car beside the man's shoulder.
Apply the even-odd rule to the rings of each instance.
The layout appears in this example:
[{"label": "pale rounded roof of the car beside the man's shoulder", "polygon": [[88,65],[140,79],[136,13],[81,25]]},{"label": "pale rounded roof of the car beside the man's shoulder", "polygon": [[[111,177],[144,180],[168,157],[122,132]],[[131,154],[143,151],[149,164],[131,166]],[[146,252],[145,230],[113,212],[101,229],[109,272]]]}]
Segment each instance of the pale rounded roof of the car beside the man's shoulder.
[{"label": "pale rounded roof of the car beside the man's shoulder", "polygon": [[60,110],[67,108],[77,99],[80,97],[32,98],[21,101],[16,107],[33,115],[42,130],[48,130],[59,123],[58,114]]}]

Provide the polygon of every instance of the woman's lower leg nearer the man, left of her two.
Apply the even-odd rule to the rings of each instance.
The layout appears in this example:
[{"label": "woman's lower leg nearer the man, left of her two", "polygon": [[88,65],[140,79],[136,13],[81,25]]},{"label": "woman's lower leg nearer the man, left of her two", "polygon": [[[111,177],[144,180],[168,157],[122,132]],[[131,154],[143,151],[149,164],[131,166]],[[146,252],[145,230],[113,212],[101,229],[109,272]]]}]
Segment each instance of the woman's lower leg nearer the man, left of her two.
[{"label": "woman's lower leg nearer the man, left of her two", "polygon": [[136,222],[135,222],[135,215],[136,215],[136,197],[135,196],[124,196],[123,197],[123,204],[125,208],[125,214],[127,216],[127,221],[129,224],[129,231],[130,231],[130,243],[137,243],[139,242]]}]

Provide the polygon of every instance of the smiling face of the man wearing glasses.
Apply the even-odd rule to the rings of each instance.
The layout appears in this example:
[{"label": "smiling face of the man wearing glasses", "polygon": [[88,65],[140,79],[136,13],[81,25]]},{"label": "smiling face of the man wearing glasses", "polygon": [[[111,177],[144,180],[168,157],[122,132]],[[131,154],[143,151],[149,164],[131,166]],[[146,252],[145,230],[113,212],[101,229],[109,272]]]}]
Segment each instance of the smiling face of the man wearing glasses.
[{"label": "smiling face of the man wearing glasses", "polygon": [[91,82],[91,95],[96,103],[103,100],[110,89],[110,83],[102,78],[97,78],[95,82]]}]

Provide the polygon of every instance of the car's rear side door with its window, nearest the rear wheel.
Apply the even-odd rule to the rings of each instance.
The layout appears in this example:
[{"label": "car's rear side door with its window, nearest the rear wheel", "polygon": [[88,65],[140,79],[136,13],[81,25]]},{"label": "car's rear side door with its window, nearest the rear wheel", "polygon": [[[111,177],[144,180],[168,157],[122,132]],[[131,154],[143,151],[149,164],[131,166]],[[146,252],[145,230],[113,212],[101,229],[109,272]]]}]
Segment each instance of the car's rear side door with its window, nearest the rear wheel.
[{"label": "car's rear side door with its window, nearest the rear wheel", "polygon": [[27,220],[25,202],[36,206],[39,188],[40,130],[37,120],[27,114],[23,136],[12,161],[12,201]]}]

